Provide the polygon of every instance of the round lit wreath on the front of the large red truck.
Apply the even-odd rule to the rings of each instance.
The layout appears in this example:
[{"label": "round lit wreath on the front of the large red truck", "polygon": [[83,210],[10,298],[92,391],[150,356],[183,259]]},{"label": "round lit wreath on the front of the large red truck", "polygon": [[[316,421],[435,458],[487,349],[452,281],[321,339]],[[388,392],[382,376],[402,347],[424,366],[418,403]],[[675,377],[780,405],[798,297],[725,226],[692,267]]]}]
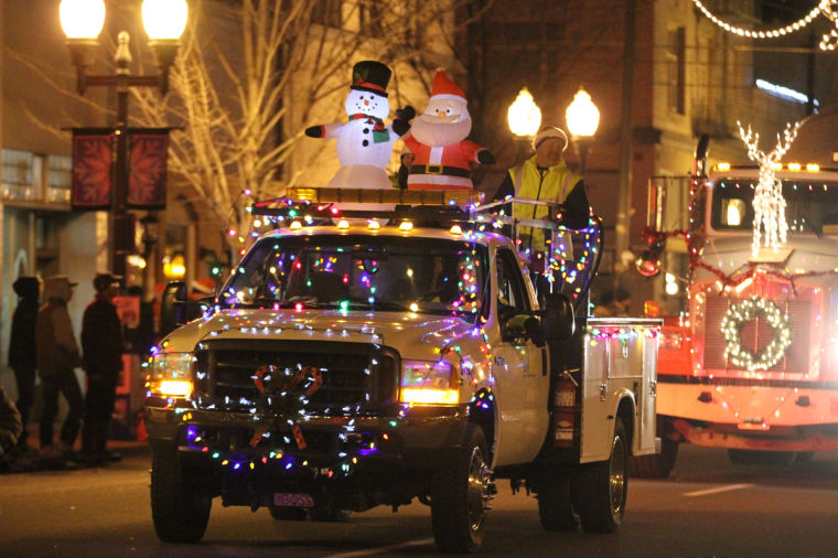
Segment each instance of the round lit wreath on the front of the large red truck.
[{"label": "round lit wreath on the front of the large red truck", "polygon": [[[759,354],[742,347],[742,328],[756,315],[763,314],[769,325],[774,330],[771,340]],[[792,329],[788,316],[770,300],[752,297],[733,304],[724,313],[721,321],[721,333],[724,335],[726,354],[731,364],[748,371],[767,371],[783,358],[788,345],[792,344]]]}]

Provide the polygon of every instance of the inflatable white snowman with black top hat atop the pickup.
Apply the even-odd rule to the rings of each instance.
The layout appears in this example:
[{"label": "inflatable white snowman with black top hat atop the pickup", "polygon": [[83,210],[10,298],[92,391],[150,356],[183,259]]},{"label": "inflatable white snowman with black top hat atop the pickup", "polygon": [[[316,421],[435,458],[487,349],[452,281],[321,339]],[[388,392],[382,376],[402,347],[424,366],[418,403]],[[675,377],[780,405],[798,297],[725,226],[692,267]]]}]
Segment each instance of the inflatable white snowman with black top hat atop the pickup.
[{"label": "inflatable white snowman with black top hat atop the pickup", "polygon": [[390,68],[380,62],[364,61],[352,71],[352,86],[344,108],[348,122],[312,126],[305,135],[312,138],[337,139],[341,168],[329,187],[391,189],[386,168],[393,143],[410,128],[411,107],[396,111],[390,126],[384,119],[390,112],[387,84]]}]

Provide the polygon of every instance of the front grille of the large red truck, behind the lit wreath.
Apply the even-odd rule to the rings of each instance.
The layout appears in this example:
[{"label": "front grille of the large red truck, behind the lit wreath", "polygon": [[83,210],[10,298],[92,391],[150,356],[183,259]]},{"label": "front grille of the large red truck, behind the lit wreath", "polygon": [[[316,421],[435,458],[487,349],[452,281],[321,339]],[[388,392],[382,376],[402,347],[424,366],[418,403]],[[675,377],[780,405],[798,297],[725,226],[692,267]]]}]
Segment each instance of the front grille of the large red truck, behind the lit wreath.
[{"label": "front grille of the large red truck, behind the lit wreath", "polygon": [[[739,300],[722,297],[708,297],[705,326],[705,371],[739,369],[724,355],[726,341],[721,334],[721,321],[728,309]],[[781,311],[788,315],[792,331],[792,344],[783,358],[767,372],[805,374],[809,368],[809,328],[812,302],[808,300],[776,301]],[[740,330],[740,343],[743,348],[756,355],[774,339],[776,333],[764,315],[758,314]]]}]

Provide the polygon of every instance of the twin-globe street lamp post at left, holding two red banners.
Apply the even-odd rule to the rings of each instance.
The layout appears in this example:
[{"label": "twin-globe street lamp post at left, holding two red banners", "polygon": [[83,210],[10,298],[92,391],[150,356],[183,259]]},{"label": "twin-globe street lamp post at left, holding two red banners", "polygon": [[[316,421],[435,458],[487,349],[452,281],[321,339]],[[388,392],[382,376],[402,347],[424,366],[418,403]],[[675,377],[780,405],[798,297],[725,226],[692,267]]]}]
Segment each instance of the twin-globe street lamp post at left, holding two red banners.
[{"label": "twin-globe street lamp post at left, holding two red banners", "polygon": [[67,46],[73,64],[76,66],[76,89],[84,95],[87,87],[114,87],[117,94],[117,119],[114,127],[116,135],[116,170],[112,192],[110,261],[112,271],[126,276],[126,257],[133,251],[133,221],[126,211],[126,191],[128,185],[128,93],[130,87],[157,87],[161,95],[169,89],[169,68],[174,61],[180,45],[180,36],[186,26],[189,8],[186,0],[144,0],[142,21],[149,35],[149,45],[154,51],[157,75],[132,75],[128,67],[131,52],[128,49],[130,37],[121,31],[117,37],[117,51],[114,55],[116,72],[105,75],[89,75],[98,47],[98,35],[105,22],[104,0],[62,0],[61,24],[67,36]]}]

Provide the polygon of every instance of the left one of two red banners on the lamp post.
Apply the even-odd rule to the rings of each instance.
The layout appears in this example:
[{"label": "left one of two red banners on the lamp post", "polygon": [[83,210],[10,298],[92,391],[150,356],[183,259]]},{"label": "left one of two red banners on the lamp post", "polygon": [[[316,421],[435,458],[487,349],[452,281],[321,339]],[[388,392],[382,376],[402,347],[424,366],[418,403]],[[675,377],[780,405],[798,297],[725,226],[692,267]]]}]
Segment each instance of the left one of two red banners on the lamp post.
[{"label": "left one of two red banners on the lamp post", "polygon": [[112,192],[114,130],[111,128],[73,129],[73,184],[71,206],[74,211],[109,210]]}]

